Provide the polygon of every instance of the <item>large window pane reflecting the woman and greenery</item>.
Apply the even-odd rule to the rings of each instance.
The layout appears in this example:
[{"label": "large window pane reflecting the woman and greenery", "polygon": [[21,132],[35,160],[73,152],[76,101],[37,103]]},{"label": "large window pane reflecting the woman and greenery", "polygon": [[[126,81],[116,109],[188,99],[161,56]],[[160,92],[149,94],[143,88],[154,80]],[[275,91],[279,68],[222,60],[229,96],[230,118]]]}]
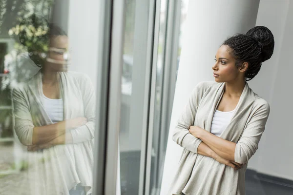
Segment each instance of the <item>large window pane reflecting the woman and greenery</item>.
[{"label": "large window pane reflecting the woman and greenery", "polygon": [[91,194],[99,2],[0,5],[0,194]]}]

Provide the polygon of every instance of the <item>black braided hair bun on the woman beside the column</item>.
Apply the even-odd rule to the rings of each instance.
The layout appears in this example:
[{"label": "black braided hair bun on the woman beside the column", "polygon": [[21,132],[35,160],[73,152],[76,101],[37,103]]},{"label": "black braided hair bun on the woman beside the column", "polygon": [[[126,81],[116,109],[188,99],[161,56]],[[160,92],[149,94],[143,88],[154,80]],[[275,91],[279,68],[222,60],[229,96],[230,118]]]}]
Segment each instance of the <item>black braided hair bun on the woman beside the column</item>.
[{"label": "black braided hair bun on the woman beside the column", "polygon": [[265,26],[255,26],[251,28],[246,36],[255,40],[261,47],[260,61],[264,62],[272,57],[274,39],[272,32]]}]

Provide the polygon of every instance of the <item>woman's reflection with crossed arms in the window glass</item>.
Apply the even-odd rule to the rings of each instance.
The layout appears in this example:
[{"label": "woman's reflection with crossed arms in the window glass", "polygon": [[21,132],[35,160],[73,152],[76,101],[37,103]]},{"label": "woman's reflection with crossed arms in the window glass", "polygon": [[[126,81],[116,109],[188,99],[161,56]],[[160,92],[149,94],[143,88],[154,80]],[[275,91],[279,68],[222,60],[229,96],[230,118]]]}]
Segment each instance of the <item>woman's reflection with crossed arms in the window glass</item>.
[{"label": "woman's reflection with crossed arms in the window glass", "polygon": [[[21,22],[20,41],[40,71],[13,90],[15,131],[27,146],[31,195],[89,195],[95,125],[95,94],[84,74],[67,72],[68,38],[35,15]],[[23,26],[43,29],[31,45]],[[30,27],[32,32],[33,27]],[[47,32],[45,29],[48,29]],[[41,32],[41,30],[40,30]],[[48,41],[47,41],[48,40]],[[37,151],[37,152],[35,152]]]}]

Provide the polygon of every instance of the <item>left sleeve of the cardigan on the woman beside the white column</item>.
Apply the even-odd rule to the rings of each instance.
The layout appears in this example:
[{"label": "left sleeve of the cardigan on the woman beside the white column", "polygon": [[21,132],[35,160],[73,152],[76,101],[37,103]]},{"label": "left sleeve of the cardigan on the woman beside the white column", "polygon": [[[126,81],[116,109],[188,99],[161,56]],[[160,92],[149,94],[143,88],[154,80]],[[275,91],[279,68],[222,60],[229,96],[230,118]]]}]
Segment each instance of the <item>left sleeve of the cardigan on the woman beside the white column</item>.
[{"label": "left sleeve of the cardigan on the woman beside the white column", "polygon": [[202,140],[192,136],[188,129],[194,123],[196,109],[200,99],[202,98],[203,91],[203,82],[199,83],[193,89],[192,94],[188,99],[188,103],[177,121],[172,137],[173,141],[175,141],[179,146],[193,153],[197,153],[197,148]]}]

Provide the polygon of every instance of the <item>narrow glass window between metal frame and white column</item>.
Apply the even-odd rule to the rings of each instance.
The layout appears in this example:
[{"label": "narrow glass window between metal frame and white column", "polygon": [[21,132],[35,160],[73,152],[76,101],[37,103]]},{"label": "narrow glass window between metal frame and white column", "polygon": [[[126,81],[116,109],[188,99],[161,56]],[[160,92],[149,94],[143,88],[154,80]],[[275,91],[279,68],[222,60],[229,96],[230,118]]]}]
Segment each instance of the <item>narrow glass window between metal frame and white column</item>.
[{"label": "narrow glass window between metal frame and white column", "polygon": [[149,186],[153,195],[161,189],[187,3],[188,0],[161,0],[160,5]]}]

